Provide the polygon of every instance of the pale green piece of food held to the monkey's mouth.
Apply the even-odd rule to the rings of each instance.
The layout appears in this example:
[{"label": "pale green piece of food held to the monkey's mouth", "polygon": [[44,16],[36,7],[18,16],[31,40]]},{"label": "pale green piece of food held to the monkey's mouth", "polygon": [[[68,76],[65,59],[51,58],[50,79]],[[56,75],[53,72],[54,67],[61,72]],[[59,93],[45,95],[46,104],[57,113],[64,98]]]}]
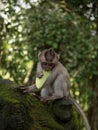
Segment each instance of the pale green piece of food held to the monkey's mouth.
[{"label": "pale green piece of food held to the monkey's mouth", "polygon": [[43,71],[43,76],[41,78],[36,77],[36,87],[38,89],[40,89],[43,86],[50,73],[51,71]]}]

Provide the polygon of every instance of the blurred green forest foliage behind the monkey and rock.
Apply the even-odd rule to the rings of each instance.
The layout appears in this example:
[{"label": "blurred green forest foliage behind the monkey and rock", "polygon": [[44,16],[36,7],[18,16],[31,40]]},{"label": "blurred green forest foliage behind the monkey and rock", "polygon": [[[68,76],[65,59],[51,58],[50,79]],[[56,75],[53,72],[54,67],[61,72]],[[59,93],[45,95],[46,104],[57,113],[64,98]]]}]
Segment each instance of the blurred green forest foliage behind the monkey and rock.
[{"label": "blurred green forest foliage behind the monkey and rock", "polygon": [[98,1],[0,0],[0,78],[31,84],[44,48],[59,53],[71,94],[98,130]]}]

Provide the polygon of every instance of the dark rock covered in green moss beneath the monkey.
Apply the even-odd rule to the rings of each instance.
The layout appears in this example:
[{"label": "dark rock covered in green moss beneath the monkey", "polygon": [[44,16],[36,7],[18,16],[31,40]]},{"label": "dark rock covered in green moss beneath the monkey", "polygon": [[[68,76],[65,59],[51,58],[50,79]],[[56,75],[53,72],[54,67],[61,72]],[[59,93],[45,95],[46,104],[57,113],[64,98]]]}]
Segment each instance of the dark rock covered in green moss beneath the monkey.
[{"label": "dark rock covered in green moss beneath the monkey", "polygon": [[43,104],[15,86],[0,80],[0,130],[78,130],[69,101]]}]

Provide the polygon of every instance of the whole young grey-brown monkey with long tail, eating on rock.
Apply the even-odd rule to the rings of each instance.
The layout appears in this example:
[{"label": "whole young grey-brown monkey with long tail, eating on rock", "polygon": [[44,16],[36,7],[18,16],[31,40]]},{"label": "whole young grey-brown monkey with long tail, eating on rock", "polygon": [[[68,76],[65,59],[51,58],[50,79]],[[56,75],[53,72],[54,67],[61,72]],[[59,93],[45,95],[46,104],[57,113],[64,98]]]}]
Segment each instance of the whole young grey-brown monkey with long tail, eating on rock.
[{"label": "whole young grey-brown monkey with long tail, eating on rock", "polygon": [[[79,104],[70,96],[70,79],[66,68],[59,62],[57,53],[52,49],[45,49],[38,55],[37,77],[42,78],[44,71],[50,74],[40,89],[40,100],[47,102],[68,97],[83,117],[87,130],[90,130],[88,120]],[[34,92],[36,85],[28,87],[28,92]],[[34,95],[34,93],[32,93]],[[35,94],[36,95],[36,94]]]}]

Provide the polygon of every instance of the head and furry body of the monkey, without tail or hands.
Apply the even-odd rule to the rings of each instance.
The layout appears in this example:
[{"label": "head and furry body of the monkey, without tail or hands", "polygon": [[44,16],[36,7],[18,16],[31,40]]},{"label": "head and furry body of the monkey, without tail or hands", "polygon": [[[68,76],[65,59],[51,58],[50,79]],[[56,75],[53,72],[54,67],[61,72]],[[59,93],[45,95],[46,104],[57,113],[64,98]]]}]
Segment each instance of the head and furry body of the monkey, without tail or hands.
[{"label": "head and furry body of the monkey, without tail or hands", "polygon": [[[48,101],[69,95],[70,80],[65,67],[59,62],[59,57],[52,49],[46,49],[39,54],[41,71],[51,71],[41,89],[41,100]],[[39,73],[39,72],[38,72]]]}]

